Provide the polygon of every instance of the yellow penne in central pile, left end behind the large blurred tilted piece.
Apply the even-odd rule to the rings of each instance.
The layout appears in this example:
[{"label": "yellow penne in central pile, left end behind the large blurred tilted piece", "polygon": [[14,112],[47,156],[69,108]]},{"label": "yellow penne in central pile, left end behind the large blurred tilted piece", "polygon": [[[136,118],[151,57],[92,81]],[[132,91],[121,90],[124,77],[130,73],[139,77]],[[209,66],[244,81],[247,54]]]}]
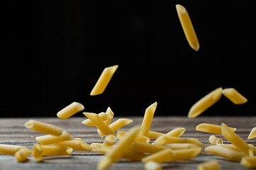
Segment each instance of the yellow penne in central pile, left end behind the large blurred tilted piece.
[{"label": "yellow penne in central pile, left end behind the large blurred tilted piece", "polygon": [[151,145],[149,143],[135,141],[132,144],[131,149],[139,153],[154,154],[156,152],[166,149],[166,147],[161,145]]}]

